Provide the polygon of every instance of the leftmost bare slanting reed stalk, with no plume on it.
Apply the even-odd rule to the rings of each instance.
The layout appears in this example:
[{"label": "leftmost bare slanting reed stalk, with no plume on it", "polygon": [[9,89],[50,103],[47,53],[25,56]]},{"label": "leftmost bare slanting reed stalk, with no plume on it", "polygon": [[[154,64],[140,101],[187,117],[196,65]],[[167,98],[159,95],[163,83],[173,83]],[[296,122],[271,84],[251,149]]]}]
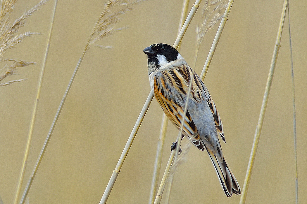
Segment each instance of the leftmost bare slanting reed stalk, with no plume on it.
[{"label": "leftmost bare slanting reed stalk, with no plume on it", "polygon": [[35,119],[36,119],[36,115],[37,115],[38,102],[39,102],[40,95],[41,95],[41,87],[42,87],[42,84],[43,84],[43,78],[44,78],[44,73],[45,73],[47,57],[48,57],[48,54],[49,54],[49,47],[50,47],[50,41],[51,41],[51,36],[52,36],[53,22],[54,22],[55,13],[56,13],[57,1],[58,0],[56,0],[54,2],[53,14],[52,14],[52,19],[51,19],[51,24],[50,24],[50,29],[49,29],[49,35],[48,35],[48,42],[47,42],[47,46],[46,46],[43,65],[42,65],[42,68],[41,68],[41,76],[40,76],[40,79],[39,79],[39,82],[38,82],[37,95],[36,95],[36,100],[35,100],[35,103],[34,103],[34,106],[33,106],[33,113],[32,113],[32,118],[31,118],[30,129],[29,129],[29,135],[28,135],[28,140],[27,140],[27,143],[26,143],[24,158],[23,158],[23,161],[22,161],[21,172],[20,172],[20,176],[19,176],[19,180],[18,180],[18,184],[17,184],[17,191],[16,191],[16,195],[15,195],[15,199],[14,199],[14,204],[17,204],[17,202],[18,202],[18,198],[19,198],[19,195],[20,195],[20,192],[21,192],[21,186],[22,186],[23,178],[25,176],[25,168],[26,168],[26,165],[28,163],[28,156],[29,156],[29,150],[30,150],[30,144],[31,144],[31,140],[32,140],[33,130],[34,130]]}]

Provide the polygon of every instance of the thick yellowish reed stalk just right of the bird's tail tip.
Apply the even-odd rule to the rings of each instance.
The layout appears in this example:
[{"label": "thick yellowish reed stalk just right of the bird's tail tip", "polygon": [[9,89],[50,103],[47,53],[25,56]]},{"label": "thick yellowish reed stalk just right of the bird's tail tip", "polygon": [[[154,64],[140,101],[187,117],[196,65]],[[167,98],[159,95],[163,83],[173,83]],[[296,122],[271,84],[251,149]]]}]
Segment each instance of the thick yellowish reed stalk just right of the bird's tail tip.
[{"label": "thick yellowish reed stalk just right of the bird's tail tip", "polygon": [[276,67],[276,63],[277,63],[277,57],[278,57],[278,52],[279,52],[279,48],[280,48],[280,40],[281,40],[281,37],[282,37],[282,29],[283,29],[285,18],[286,18],[287,5],[288,5],[288,0],[285,0],[283,8],[282,8],[282,15],[280,17],[279,28],[278,28],[278,33],[277,33],[277,37],[276,37],[276,43],[275,43],[275,46],[274,46],[273,57],[272,57],[271,65],[270,65],[269,76],[268,76],[268,79],[267,79],[267,82],[266,82],[266,88],[265,88],[265,92],[264,92],[264,96],[263,96],[263,100],[262,100],[258,124],[256,126],[254,142],[253,142],[253,145],[252,145],[251,155],[250,155],[250,159],[249,159],[248,166],[247,166],[246,176],[245,176],[244,185],[243,185],[243,189],[242,189],[242,195],[241,195],[241,198],[240,198],[240,204],[243,204],[246,201],[248,186],[249,186],[249,183],[250,183],[250,180],[251,180],[251,172],[252,172],[253,165],[254,165],[254,162],[255,162],[255,157],[256,157],[256,152],[257,152],[258,143],[259,143],[259,139],[260,139],[261,129],[262,129],[263,121],[264,121],[264,115],[265,115],[265,112],[266,112],[266,106],[267,106],[267,102],[268,102],[268,99],[269,99],[272,80],[273,80],[274,71],[275,71],[275,67]]}]

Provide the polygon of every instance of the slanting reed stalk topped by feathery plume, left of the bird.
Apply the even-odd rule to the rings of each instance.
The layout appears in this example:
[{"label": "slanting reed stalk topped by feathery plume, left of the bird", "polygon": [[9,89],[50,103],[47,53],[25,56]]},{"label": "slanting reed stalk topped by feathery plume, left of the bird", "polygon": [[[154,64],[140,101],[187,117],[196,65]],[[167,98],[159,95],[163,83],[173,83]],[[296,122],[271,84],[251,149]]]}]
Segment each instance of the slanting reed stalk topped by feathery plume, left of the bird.
[{"label": "slanting reed stalk topped by feathery plume, left of the bird", "polygon": [[[103,39],[107,36],[110,36],[112,34],[114,34],[115,32],[118,32],[118,31],[121,31],[122,29],[124,28],[114,28],[113,25],[118,23],[121,18],[119,18],[119,16],[125,14],[126,12],[129,12],[132,10],[132,7],[133,5],[135,4],[138,4],[140,2],[140,0],[134,0],[134,1],[128,1],[128,0],[109,0],[108,2],[106,2],[105,4],[105,7],[99,17],[99,20],[96,22],[96,25],[87,41],[87,44],[83,50],[83,53],[76,65],[76,68],[72,74],[72,77],[71,77],[71,80],[70,82],[68,83],[68,87],[65,91],[65,94],[62,98],[62,101],[60,103],[60,106],[56,112],[56,115],[55,115],[55,118],[52,122],[52,125],[51,125],[51,128],[49,130],[49,133],[46,137],[46,140],[45,140],[45,143],[41,149],[41,153],[37,159],[37,162],[35,164],[35,167],[33,169],[33,172],[30,176],[30,179],[28,181],[28,184],[25,188],[25,191],[22,195],[22,198],[21,198],[21,203],[24,203],[25,202],[25,198],[27,197],[28,193],[29,193],[29,190],[30,190],[30,187],[32,185],[32,182],[34,180],[34,177],[37,173],[37,170],[38,170],[38,167],[41,163],[41,160],[45,154],[45,151],[46,151],[46,148],[48,146],[48,143],[49,143],[49,140],[51,138],[51,135],[52,135],[52,132],[55,128],[55,125],[56,125],[56,122],[60,116],[60,113],[61,113],[61,110],[64,106],[64,103],[66,101],[66,98],[68,96],[68,93],[69,93],[69,90],[72,86],[72,83],[76,77],[76,74],[78,72],[78,69],[80,68],[80,65],[83,61],[83,58],[84,58],[84,55],[85,53],[91,48],[91,47],[94,47],[94,46],[98,46],[100,48],[110,48],[110,46],[103,46],[103,45],[98,45],[98,44],[95,44],[98,40],[100,39]],[[117,7],[117,6],[122,6],[121,9],[118,9],[116,10],[115,12],[111,13],[111,9],[114,8],[114,7]]]}]

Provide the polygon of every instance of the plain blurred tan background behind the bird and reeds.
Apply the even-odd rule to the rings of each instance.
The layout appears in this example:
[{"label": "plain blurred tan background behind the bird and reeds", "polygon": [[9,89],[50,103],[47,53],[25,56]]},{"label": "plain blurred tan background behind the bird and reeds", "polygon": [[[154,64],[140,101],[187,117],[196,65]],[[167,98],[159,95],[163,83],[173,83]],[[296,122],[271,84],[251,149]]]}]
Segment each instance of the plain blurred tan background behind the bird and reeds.
[{"label": "plain blurred tan background behind the bird and reeds", "polygon": [[[68,81],[105,1],[60,0],[56,11],[25,184],[45,141]],[[13,20],[38,1],[17,1]],[[194,2],[191,1],[190,7]],[[224,125],[223,152],[241,188],[250,156],[273,54],[282,0],[235,0],[205,79]],[[36,61],[18,69],[23,82],[1,87],[0,195],[12,203],[28,135],[53,1],[30,17],[25,39],[5,58]],[[200,5],[183,39],[181,55],[192,65]],[[306,203],[306,0],[290,1],[297,111],[299,202]],[[112,50],[87,52],[29,192],[30,203],[99,203],[134,123],[149,94],[147,59],[153,43],[173,45],[182,1],[149,0],[135,6],[117,25],[128,30],[103,39]],[[201,45],[200,74],[217,26]],[[3,65],[1,65],[3,66]],[[267,106],[247,203],[294,203],[293,107],[288,21]],[[124,162],[108,203],[147,203],[162,110],[155,99]],[[162,172],[178,131],[169,124]],[[186,143],[186,139],[184,139]],[[238,203],[227,198],[206,152],[192,147],[180,166],[171,203]],[[162,199],[165,203],[165,200]]]}]

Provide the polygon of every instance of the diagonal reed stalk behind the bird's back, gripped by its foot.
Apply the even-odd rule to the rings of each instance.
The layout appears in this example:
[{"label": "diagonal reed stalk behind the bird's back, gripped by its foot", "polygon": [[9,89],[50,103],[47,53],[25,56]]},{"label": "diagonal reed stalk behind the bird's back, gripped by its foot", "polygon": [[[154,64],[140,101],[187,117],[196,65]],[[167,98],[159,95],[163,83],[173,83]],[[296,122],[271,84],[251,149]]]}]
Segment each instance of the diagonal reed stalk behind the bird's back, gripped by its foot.
[{"label": "diagonal reed stalk behind the bird's back, gripped by its foot", "polygon": [[[223,29],[224,29],[224,27],[225,27],[225,24],[226,24],[226,21],[227,21],[227,17],[228,17],[228,15],[229,15],[231,6],[232,6],[232,4],[233,4],[233,1],[234,1],[234,0],[230,0],[230,1],[228,2],[227,8],[226,8],[226,10],[225,10],[225,12],[224,12],[224,15],[223,15],[223,18],[222,18],[222,20],[221,20],[220,26],[219,26],[219,28],[218,28],[218,30],[217,30],[217,32],[216,32],[216,36],[215,36],[215,38],[214,38],[214,40],[213,40],[211,49],[210,49],[209,54],[208,54],[208,57],[207,57],[207,60],[206,60],[206,62],[205,62],[205,64],[204,64],[203,71],[201,72],[201,75],[200,75],[200,78],[202,78],[202,80],[204,80],[204,77],[205,77],[205,75],[206,75],[206,73],[207,73],[207,71],[205,71],[204,69],[208,70],[208,67],[209,67],[209,65],[210,65],[210,62],[212,61],[213,54],[214,54],[214,52],[215,52],[215,50],[216,50],[217,43],[219,42],[220,37],[221,37],[221,34],[222,34]],[[192,80],[191,80],[191,81],[192,81]],[[189,88],[190,88],[190,87],[189,87]],[[186,107],[185,107],[185,109],[186,109]],[[182,130],[181,130],[181,131],[182,131]],[[181,131],[180,131],[180,132],[181,132]],[[167,177],[168,177],[168,174],[169,174],[171,165],[172,165],[173,160],[174,160],[174,157],[175,157],[175,153],[174,153],[174,152],[176,152],[177,154],[178,154],[178,152],[179,152],[179,147],[180,147],[180,142],[181,142],[181,140],[180,140],[180,137],[181,137],[180,132],[179,132],[178,137],[177,137],[178,143],[177,143],[177,146],[176,146],[176,150],[175,150],[175,151],[172,151],[172,153],[171,153],[171,155],[170,155],[170,157],[169,157],[169,162],[168,162],[167,165],[166,165],[165,172],[164,172],[164,175],[163,175],[163,178],[162,178],[162,181],[161,181],[159,190],[158,190],[158,194],[157,194],[156,200],[155,200],[155,202],[154,202],[154,203],[156,203],[156,204],[158,204],[158,203],[161,202],[162,194],[163,194],[163,191],[164,191],[164,188],[165,188],[165,184],[166,184],[166,179],[167,179]]]}]

